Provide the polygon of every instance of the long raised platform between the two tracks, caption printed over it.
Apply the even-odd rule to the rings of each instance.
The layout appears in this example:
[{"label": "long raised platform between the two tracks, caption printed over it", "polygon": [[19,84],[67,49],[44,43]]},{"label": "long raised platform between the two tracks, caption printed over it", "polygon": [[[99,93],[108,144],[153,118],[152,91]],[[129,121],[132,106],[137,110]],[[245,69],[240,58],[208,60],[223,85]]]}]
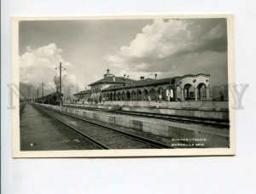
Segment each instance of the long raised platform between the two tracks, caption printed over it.
[{"label": "long raised platform between the two tracks, caption printed over it", "polygon": [[216,128],[214,126],[204,126],[196,123],[176,123],[146,117],[131,117],[100,110],[83,110],[79,109],[79,107],[52,106],[45,104],[38,105],[55,111],[72,113],[80,117],[94,119],[104,123],[111,123],[124,128],[132,128],[148,134],[171,138],[173,140],[183,141],[186,145],[194,144],[199,140],[200,143],[202,143],[202,147],[229,146],[229,128]]}]

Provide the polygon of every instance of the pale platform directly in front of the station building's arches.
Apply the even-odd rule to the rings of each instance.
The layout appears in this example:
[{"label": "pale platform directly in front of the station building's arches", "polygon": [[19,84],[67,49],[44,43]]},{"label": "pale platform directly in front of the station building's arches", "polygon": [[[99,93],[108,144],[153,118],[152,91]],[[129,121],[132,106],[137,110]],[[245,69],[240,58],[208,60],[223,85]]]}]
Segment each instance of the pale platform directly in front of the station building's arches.
[{"label": "pale platform directly in front of the station building's arches", "polygon": [[120,109],[122,111],[146,112],[179,117],[198,117],[203,119],[218,119],[228,121],[228,101],[176,101],[162,103],[154,101],[111,101],[99,104],[64,104],[69,107],[92,108],[102,110]]}]

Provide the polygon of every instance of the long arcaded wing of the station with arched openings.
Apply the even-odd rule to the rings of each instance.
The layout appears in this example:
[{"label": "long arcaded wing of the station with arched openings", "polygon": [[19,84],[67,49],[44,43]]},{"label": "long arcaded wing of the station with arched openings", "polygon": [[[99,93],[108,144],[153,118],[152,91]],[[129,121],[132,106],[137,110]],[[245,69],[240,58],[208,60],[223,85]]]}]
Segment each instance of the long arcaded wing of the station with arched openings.
[{"label": "long arcaded wing of the station with arched openings", "polygon": [[102,89],[108,100],[210,100],[210,75],[141,79]]}]

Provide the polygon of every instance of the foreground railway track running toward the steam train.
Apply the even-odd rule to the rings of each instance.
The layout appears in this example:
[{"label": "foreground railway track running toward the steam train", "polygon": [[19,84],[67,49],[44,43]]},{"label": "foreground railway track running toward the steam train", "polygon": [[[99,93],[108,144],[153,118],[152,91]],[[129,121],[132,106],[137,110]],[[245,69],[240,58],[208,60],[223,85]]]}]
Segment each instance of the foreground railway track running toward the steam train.
[{"label": "foreground railway track running toward the steam train", "polygon": [[150,140],[137,134],[130,134],[121,131],[115,126],[108,126],[82,117],[71,114],[52,111],[41,106],[36,106],[40,111],[44,111],[49,117],[72,129],[86,140],[96,145],[98,149],[161,149],[173,148],[171,145]]}]

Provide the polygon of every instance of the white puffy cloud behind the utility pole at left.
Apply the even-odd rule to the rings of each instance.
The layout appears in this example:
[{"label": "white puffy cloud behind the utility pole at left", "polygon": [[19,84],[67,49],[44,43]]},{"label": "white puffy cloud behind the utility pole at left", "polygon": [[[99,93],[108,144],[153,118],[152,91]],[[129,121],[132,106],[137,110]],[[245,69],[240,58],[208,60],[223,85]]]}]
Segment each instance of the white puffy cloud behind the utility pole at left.
[{"label": "white puffy cloud behind the utility pole at left", "polygon": [[[55,43],[36,49],[28,46],[26,53],[20,55],[20,82],[58,84],[60,76],[55,67],[59,66],[60,61],[67,69],[73,66],[72,63],[62,59],[61,52],[61,48]],[[63,71],[62,80],[63,85],[76,83],[76,77],[67,75],[67,71]]]}]

